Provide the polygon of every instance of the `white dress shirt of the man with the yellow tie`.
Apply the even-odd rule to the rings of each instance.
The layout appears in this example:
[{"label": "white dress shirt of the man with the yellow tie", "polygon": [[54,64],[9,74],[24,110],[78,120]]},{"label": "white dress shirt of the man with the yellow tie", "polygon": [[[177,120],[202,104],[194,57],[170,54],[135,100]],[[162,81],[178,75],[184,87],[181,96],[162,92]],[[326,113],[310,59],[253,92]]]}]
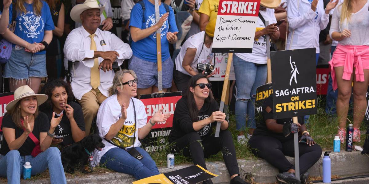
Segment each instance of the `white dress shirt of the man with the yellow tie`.
[{"label": "white dress shirt of the man with the yellow tie", "polygon": [[[132,50],[127,43],[124,43],[117,36],[109,31],[101,31],[97,29],[95,32],[94,40],[96,43],[97,51],[116,51],[119,56],[115,60],[120,66],[125,59],[129,59],[132,56]],[[91,68],[94,65],[93,58],[94,51],[90,50],[91,38],[90,33],[80,26],[79,28],[73,29],[64,45],[64,54],[66,62],[69,61],[80,61],[74,63],[74,70],[71,70],[72,75],[72,91],[76,99],[80,100],[82,96],[91,91]],[[104,59],[99,57],[99,63]],[[108,96],[108,88],[112,85],[114,78],[114,71],[100,70],[100,85],[99,90],[104,96]]]}]

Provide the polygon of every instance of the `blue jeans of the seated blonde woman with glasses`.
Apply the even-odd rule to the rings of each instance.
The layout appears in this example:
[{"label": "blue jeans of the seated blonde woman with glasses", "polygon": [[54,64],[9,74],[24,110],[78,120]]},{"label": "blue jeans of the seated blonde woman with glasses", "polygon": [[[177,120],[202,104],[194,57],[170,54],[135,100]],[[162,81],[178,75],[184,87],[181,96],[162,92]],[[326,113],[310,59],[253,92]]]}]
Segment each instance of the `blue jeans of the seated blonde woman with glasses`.
[{"label": "blue jeans of the seated blonde woman with glasses", "polygon": [[111,148],[101,157],[100,165],[105,164],[108,169],[133,175],[137,180],[160,174],[149,153],[140,147],[135,147],[135,149],[144,156],[143,159],[133,158],[124,149]]}]

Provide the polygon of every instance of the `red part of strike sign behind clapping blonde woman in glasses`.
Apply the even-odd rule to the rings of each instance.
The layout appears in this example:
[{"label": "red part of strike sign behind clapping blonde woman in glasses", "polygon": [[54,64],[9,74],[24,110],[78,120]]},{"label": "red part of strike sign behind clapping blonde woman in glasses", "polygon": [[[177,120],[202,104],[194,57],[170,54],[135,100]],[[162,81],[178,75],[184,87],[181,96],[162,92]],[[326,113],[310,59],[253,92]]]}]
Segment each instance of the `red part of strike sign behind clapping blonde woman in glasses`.
[{"label": "red part of strike sign behind clapping blonde woman in glasses", "polygon": [[152,129],[155,128],[167,128],[173,126],[173,114],[177,105],[177,101],[182,98],[182,96],[170,96],[162,98],[148,98],[141,99],[145,105],[145,111],[147,114],[147,121],[158,112],[159,109],[163,109],[164,114],[172,114],[165,122],[156,123]]}]

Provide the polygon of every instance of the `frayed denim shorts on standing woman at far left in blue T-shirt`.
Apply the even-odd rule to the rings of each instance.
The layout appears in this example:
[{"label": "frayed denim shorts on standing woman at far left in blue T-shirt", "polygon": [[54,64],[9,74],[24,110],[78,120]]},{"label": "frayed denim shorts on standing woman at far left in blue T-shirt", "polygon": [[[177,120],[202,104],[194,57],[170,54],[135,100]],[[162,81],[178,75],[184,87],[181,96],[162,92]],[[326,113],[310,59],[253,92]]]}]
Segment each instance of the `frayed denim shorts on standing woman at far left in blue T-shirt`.
[{"label": "frayed denim shorts on standing woman at far left in blue T-shirt", "polygon": [[23,47],[18,50],[13,47],[10,58],[5,64],[3,77],[14,79],[47,77],[46,54],[32,54],[26,52]]}]

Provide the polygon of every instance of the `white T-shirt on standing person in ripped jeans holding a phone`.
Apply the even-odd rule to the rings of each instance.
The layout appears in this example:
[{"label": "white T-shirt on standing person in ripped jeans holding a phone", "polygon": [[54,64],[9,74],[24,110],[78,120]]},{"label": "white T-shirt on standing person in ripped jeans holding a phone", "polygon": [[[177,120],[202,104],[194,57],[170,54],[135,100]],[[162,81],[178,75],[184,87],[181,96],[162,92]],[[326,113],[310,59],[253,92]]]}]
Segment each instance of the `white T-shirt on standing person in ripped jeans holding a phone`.
[{"label": "white T-shirt on standing person in ripped jeans holding a phone", "polygon": [[[274,15],[274,9],[266,8],[265,11],[259,11],[265,21],[269,21],[269,24],[277,23]],[[260,31],[265,28],[263,21],[258,17],[256,23],[256,31]],[[237,57],[257,64],[266,64],[266,36],[260,36],[254,40],[254,46],[252,47],[252,53],[235,53]]]}]

